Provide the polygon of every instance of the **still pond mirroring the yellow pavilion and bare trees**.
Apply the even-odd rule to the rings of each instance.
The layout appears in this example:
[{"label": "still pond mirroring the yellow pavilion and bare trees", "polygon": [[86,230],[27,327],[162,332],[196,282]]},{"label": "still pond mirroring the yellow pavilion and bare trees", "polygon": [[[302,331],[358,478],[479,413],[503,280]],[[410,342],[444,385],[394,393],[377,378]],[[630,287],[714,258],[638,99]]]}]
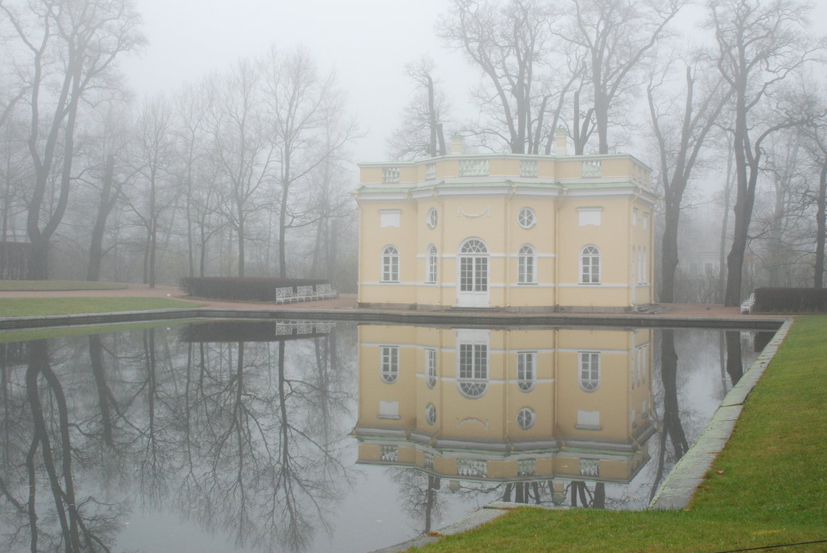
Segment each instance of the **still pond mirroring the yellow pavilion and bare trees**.
[{"label": "still pond mirroring the yellow pavilion and bare trees", "polygon": [[0,343],[0,551],[361,553],[494,500],[645,508],[767,340],[310,321],[99,331]]}]

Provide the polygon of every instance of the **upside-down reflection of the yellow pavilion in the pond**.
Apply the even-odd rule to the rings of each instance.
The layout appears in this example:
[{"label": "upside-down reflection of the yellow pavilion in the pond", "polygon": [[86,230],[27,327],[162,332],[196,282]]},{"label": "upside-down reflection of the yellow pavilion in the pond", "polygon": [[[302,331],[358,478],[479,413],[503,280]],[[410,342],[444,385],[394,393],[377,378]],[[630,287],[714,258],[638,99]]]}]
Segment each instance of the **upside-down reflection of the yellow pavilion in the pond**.
[{"label": "upside-down reflection of the yellow pavilion in the pond", "polygon": [[605,483],[649,460],[651,330],[363,325],[358,340],[360,464],[604,507]]}]

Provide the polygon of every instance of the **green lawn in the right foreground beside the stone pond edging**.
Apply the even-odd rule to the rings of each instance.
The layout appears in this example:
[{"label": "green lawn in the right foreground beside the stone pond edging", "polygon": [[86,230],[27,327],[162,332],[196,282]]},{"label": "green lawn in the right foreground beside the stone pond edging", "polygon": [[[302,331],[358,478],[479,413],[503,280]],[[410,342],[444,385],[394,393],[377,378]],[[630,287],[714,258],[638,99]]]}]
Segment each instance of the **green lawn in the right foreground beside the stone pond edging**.
[{"label": "green lawn in the right foreground beside the stone pond edging", "polygon": [[[799,317],[680,511],[520,508],[409,551],[714,553],[827,540],[827,315]],[[767,551],[814,553],[827,543]]]}]

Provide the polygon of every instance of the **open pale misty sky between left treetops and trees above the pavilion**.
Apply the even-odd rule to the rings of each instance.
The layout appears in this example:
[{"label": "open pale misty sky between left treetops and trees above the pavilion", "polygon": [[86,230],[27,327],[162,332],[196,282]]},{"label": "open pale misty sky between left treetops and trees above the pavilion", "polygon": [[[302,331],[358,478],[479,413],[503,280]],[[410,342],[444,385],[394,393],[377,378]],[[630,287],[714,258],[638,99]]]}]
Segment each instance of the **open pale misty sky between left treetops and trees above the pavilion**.
[{"label": "open pale misty sky between left treetops and trees above the pavilion", "polygon": [[271,44],[304,45],[319,69],[335,69],[347,107],[366,136],[351,150],[356,161],[386,159],[386,137],[399,121],[413,84],[404,64],[428,54],[437,75],[464,98],[476,74],[433,33],[446,0],[136,0],[150,44],[122,60],[141,98],[171,93],[233,61],[262,55]]}]

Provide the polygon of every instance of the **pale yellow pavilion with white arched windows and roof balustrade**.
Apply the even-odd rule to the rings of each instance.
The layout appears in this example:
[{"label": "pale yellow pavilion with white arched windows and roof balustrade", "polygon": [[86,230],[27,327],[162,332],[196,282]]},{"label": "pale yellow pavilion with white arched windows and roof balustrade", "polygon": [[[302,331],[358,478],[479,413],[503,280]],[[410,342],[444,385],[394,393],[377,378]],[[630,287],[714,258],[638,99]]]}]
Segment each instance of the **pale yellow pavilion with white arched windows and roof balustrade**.
[{"label": "pale yellow pavilion with white arched windows and roof balustrade", "polygon": [[653,303],[650,169],[631,155],[360,164],[363,307],[633,311]]}]

